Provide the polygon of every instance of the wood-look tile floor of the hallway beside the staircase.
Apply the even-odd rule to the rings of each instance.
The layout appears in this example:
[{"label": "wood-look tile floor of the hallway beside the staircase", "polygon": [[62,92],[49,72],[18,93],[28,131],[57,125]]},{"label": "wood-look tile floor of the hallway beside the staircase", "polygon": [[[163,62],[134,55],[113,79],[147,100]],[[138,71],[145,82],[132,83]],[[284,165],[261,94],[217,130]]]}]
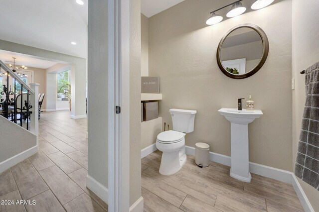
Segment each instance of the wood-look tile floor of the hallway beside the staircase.
[{"label": "wood-look tile floor of the hallway beside the staircase", "polygon": [[66,110],[42,112],[39,151],[0,173],[1,200],[32,200],[35,205],[1,205],[0,212],[107,212],[86,188],[87,119]]}]

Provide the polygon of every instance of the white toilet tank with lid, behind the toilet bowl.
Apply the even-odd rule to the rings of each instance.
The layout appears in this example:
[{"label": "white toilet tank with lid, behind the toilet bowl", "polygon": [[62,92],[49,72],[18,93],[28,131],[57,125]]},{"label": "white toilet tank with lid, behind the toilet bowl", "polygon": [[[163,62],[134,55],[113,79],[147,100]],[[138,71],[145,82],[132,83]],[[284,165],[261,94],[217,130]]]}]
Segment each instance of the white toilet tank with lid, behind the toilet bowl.
[{"label": "white toilet tank with lid, behind the toilet bowl", "polygon": [[169,113],[173,121],[173,130],[185,133],[194,131],[196,112],[196,110],[188,109],[170,109]]}]

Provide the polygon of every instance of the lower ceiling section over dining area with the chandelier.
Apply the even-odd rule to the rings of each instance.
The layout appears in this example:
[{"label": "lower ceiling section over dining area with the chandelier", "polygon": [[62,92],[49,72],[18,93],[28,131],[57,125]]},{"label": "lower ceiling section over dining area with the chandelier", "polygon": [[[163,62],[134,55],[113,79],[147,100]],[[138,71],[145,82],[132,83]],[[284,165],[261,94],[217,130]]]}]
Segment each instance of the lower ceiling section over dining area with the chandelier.
[{"label": "lower ceiling section over dining area with the chandelier", "polygon": [[47,69],[57,63],[61,63],[60,61],[58,62],[58,61],[42,60],[39,58],[34,58],[30,55],[0,50],[0,60],[2,60],[5,64],[12,64],[13,66],[12,57],[16,58],[15,66],[19,66],[19,67],[24,65],[26,67]]}]

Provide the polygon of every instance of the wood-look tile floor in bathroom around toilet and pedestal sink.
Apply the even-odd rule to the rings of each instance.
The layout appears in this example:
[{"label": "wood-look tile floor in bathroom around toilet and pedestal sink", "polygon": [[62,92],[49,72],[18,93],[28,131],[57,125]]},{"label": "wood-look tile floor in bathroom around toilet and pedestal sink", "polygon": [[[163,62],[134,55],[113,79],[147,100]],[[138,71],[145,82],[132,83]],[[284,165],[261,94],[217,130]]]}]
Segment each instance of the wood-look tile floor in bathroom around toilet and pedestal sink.
[{"label": "wood-look tile floor in bathroom around toilet and pedestal sink", "polygon": [[251,183],[229,176],[230,167],[199,168],[187,156],[174,175],[159,173],[161,152],[142,159],[145,212],[303,212],[292,185],[252,174]]}]

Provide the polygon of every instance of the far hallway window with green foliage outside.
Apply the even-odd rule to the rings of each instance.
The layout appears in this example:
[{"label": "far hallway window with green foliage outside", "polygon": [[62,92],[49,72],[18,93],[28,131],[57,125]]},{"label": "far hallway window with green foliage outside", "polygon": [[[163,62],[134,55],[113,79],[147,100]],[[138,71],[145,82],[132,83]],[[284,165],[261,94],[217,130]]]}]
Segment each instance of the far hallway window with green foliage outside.
[{"label": "far hallway window with green foliage outside", "polygon": [[69,101],[71,94],[70,71],[57,74],[57,98],[58,101]]}]

